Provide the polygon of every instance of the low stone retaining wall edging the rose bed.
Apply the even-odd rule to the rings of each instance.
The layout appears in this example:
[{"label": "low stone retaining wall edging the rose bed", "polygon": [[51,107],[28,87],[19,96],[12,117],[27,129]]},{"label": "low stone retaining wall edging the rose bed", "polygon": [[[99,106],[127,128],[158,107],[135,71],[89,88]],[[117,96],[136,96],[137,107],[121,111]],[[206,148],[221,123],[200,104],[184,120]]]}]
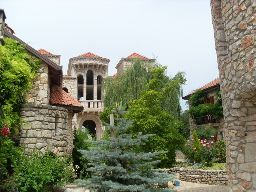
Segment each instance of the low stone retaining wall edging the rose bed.
[{"label": "low stone retaining wall edging the rose bed", "polygon": [[227,170],[179,169],[180,180],[210,185],[227,185]]}]

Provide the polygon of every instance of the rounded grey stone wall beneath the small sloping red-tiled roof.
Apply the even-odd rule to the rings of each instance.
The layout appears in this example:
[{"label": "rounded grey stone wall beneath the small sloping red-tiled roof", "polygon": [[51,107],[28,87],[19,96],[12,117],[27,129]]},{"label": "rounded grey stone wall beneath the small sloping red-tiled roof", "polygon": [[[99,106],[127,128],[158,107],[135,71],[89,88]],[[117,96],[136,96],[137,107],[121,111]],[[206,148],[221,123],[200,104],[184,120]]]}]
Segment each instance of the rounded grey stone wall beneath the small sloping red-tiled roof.
[{"label": "rounded grey stone wall beneath the small sloping red-tiled roof", "polygon": [[26,152],[36,148],[43,154],[49,149],[58,156],[71,155],[72,128],[68,119],[72,119],[72,111],[26,103],[20,109],[20,116],[24,123],[19,128],[19,147],[25,147]]}]

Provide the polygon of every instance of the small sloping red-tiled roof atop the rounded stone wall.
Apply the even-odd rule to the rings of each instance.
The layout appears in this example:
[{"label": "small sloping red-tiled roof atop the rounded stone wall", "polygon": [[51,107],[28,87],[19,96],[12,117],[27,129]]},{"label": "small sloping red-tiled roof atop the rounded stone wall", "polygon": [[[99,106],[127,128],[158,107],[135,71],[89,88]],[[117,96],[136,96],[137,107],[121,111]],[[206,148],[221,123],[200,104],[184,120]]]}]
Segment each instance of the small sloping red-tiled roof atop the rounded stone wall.
[{"label": "small sloping red-tiled roof atop the rounded stone wall", "polygon": [[72,105],[76,107],[83,107],[74,97],[69,95],[59,86],[52,84],[50,90],[50,103],[59,105]]}]

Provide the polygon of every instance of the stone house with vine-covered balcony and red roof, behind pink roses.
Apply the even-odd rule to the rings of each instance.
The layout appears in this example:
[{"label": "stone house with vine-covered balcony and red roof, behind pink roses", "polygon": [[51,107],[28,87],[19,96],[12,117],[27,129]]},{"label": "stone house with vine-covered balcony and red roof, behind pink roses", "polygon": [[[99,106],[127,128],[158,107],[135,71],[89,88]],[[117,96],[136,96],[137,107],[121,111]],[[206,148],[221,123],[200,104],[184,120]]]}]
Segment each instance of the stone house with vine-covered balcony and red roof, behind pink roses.
[{"label": "stone house with vine-covered balcony and red roof, behind pink roses", "polygon": [[[214,79],[210,83],[207,83],[203,87],[200,87],[198,90],[202,90],[203,93],[206,93],[206,98],[203,99],[202,103],[217,103],[217,91],[219,91],[219,78]],[[190,109],[191,103],[189,102],[189,98],[195,91],[192,91],[188,95],[182,97],[184,100],[188,100],[188,108]],[[198,116],[195,119],[189,118],[190,125],[190,137],[193,139],[194,129],[203,126],[210,126],[216,129],[216,137],[215,139],[224,139],[225,140],[225,132],[223,130],[224,122],[223,118],[214,118],[212,114],[207,114],[205,116]]]}]

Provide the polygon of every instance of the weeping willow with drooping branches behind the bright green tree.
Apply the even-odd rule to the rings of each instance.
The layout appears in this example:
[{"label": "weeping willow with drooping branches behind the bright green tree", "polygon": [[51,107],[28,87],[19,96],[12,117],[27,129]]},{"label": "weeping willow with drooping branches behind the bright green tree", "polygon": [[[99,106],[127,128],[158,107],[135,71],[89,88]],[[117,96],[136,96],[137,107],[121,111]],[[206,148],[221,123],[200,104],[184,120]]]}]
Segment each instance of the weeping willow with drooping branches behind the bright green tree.
[{"label": "weeping willow with drooping branches behind the bright green tree", "polygon": [[[161,66],[155,63],[154,66],[149,63],[143,62],[141,59],[134,59],[132,67],[128,67],[125,72],[122,72],[116,76],[116,78],[105,78],[102,84],[102,90],[104,93],[104,107],[110,108],[112,102],[123,102],[123,106],[128,109],[128,102],[139,98],[139,94],[142,90],[147,89],[146,84],[149,80],[154,78],[154,73],[151,69]],[[170,83],[173,80],[180,80],[184,78],[184,72],[178,72],[173,78],[164,75],[162,82],[160,83],[159,90]],[[163,111],[171,113],[174,117],[180,117],[181,106],[180,98],[182,96],[182,88],[179,87],[174,91],[167,93],[162,102]]]}]

